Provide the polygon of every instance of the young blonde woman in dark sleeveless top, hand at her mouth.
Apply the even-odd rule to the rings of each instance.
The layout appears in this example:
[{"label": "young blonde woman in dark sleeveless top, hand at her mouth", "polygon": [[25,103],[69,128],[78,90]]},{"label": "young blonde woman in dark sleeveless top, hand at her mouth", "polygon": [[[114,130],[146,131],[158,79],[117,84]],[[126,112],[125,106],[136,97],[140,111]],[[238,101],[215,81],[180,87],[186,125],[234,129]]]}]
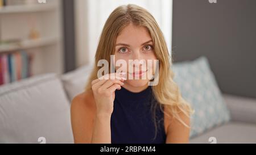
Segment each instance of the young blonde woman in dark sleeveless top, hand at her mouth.
[{"label": "young blonde woman in dark sleeveless top, hand at her mouth", "polygon": [[[111,55],[139,72],[122,68],[122,74],[104,76],[113,79],[99,78],[98,61],[110,64]],[[157,85],[142,78],[155,65],[142,69],[129,60],[158,60]],[[191,112],[173,81],[167,45],[154,17],[137,5],[117,7],[103,28],[86,89],[72,100],[75,143],[188,143]]]}]

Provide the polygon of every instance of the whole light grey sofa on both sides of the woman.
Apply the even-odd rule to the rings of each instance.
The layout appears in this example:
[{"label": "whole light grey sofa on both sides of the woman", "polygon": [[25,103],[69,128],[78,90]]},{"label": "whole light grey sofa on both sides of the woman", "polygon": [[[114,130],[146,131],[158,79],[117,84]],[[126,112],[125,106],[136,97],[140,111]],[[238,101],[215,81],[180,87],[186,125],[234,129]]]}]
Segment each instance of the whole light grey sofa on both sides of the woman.
[{"label": "whole light grey sofa on both sides of the woman", "polygon": [[[0,143],[73,143],[70,103],[83,91],[90,66],[0,86]],[[256,99],[223,95],[232,120],[191,143],[256,143]],[[43,140],[42,140],[43,139]]]}]

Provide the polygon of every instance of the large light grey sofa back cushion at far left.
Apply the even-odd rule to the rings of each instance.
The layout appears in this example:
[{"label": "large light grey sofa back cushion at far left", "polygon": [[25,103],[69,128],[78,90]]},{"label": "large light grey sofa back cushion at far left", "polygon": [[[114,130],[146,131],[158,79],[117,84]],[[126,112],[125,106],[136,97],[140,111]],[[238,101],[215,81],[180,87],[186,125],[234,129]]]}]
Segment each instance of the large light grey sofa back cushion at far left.
[{"label": "large light grey sofa back cushion at far left", "polygon": [[73,143],[69,101],[56,74],[0,87],[0,143]]}]

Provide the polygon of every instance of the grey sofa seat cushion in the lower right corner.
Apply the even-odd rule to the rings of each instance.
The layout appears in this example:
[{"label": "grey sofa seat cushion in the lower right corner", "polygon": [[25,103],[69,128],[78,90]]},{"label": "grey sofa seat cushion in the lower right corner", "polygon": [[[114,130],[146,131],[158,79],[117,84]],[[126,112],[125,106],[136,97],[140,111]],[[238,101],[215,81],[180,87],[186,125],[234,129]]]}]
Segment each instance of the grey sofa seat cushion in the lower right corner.
[{"label": "grey sofa seat cushion in the lower right corner", "polygon": [[189,143],[210,143],[210,137],[214,137],[216,143],[256,143],[256,124],[226,123],[191,139]]}]

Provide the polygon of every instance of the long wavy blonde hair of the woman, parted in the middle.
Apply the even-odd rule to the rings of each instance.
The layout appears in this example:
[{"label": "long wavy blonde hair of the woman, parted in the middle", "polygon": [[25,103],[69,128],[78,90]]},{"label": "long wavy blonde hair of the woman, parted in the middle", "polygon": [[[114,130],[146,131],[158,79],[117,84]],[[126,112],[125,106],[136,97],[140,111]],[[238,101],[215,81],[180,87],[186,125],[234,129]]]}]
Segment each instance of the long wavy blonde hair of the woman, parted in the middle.
[{"label": "long wavy blonde hair of the woman, parted in the middle", "polygon": [[[159,60],[159,83],[156,86],[152,86],[152,92],[156,100],[160,104],[160,107],[166,109],[165,114],[176,118],[180,123],[189,128],[189,125],[185,124],[180,118],[179,113],[183,112],[189,118],[192,109],[189,103],[181,97],[179,88],[173,80],[174,73],[171,70],[172,61],[163,33],[154,17],[147,10],[137,5],[119,6],[110,14],[108,20],[106,20],[95,55],[94,69],[86,84],[85,90],[91,91],[91,82],[93,79],[98,78],[97,72],[100,69],[97,66],[97,62],[102,59],[110,62],[110,55],[114,55],[117,36],[129,23],[147,28],[154,43],[155,56]],[[162,108],[161,110],[163,111]]]}]

